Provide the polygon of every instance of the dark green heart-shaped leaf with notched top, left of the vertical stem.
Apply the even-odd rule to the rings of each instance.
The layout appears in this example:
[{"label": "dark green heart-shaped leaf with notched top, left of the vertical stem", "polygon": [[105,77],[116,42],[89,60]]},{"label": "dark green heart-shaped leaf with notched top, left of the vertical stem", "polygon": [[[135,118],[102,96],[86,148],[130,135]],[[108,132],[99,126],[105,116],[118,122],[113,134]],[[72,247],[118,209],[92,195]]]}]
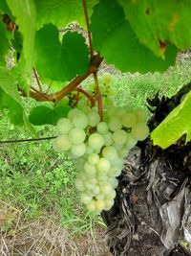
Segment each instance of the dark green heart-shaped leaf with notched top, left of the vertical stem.
[{"label": "dark green heart-shaped leaf with notched top, left of the vertical stem", "polygon": [[85,38],[76,32],[63,35],[62,43],[53,24],[45,25],[36,33],[35,65],[42,77],[70,81],[87,70],[88,56]]}]

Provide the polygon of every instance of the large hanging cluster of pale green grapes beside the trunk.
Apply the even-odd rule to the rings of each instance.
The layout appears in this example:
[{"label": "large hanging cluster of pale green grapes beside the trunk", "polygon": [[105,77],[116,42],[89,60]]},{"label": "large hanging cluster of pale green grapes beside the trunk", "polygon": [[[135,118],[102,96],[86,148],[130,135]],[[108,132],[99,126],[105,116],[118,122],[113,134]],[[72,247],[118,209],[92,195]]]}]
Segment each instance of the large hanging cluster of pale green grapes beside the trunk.
[{"label": "large hanging cluster of pale green grapes beside the trunk", "polygon": [[90,211],[109,210],[124,156],[149,134],[144,110],[111,105],[100,121],[94,108],[74,108],[58,120],[57,129],[53,149],[77,158],[75,186],[81,201]]}]

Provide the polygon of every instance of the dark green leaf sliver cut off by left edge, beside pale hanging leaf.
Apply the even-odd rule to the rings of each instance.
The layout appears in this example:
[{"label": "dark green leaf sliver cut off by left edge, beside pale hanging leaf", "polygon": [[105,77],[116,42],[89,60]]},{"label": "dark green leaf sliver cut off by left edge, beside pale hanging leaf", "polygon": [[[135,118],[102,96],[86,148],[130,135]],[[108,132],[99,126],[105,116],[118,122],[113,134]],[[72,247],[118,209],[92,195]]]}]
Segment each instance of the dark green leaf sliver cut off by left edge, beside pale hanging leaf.
[{"label": "dark green leaf sliver cut off by left edge, beside pale hanging leaf", "polygon": [[2,61],[10,48],[5,24],[2,21],[0,21],[0,35],[0,61]]}]

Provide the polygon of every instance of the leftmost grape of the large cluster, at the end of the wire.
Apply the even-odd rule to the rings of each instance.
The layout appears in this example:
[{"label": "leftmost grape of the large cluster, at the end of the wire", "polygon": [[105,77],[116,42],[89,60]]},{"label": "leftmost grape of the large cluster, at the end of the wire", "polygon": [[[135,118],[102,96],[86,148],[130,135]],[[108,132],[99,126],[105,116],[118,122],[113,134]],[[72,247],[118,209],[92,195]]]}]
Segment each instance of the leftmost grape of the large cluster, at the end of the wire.
[{"label": "leftmost grape of the large cluster, at the end of the wire", "polygon": [[69,137],[65,134],[58,136],[53,140],[53,150],[57,152],[69,151],[72,144]]}]

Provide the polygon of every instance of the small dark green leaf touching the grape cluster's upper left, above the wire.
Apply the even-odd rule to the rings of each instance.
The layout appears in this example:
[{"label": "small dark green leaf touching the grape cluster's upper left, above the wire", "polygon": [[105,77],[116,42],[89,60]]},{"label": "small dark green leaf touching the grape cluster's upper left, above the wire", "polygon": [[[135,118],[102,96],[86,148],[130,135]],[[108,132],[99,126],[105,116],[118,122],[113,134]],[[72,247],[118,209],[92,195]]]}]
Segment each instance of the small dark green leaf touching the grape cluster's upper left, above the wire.
[{"label": "small dark green leaf touching the grape cluster's upper left, above the wire", "polygon": [[59,118],[67,116],[69,110],[68,105],[60,105],[54,108],[38,105],[32,108],[29,120],[34,126],[55,125]]}]

